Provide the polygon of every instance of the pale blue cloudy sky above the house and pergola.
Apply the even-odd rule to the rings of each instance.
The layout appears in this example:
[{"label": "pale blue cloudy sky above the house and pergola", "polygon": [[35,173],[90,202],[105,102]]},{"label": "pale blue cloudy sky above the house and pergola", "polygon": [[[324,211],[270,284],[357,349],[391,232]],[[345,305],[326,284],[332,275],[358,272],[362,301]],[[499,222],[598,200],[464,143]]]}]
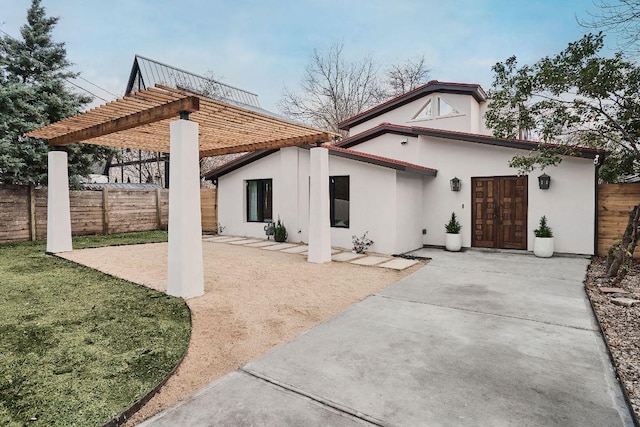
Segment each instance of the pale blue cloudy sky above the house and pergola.
[{"label": "pale blue cloudy sky above the house and pergola", "polygon": [[[20,36],[31,0],[0,0],[0,30]],[[491,66],[561,51],[588,30],[591,0],[42,0],[60,18],[76,83],[122,96],[139,54],[257,93],[277,112],[297,90],[314,49],[344,43],[346,60],[371,55],[381,72],[424,55],[430,79],[491,86]],[[613,39],[607,44],[612,45]],[[107,92],[91,83],[106,89]],[[110,92],[110,93],[109,93]],[[93,105],[104,103],[98,99]]]}]

